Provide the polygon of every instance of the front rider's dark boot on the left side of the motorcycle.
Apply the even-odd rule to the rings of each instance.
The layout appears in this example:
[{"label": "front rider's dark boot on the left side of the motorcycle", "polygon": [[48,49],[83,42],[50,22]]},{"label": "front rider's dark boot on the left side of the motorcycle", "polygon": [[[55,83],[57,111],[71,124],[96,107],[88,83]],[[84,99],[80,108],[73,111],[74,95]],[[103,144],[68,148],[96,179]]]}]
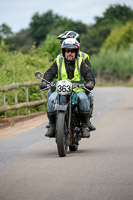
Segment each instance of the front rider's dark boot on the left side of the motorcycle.
[{"label": "front rider's dark boot on the left side of the motorcycle", "polygon": [[49,119],[49,125],[45,136],[46,137],[54,137],[55,136],[55,113],[54,112],[47,112],[47,116]]}]

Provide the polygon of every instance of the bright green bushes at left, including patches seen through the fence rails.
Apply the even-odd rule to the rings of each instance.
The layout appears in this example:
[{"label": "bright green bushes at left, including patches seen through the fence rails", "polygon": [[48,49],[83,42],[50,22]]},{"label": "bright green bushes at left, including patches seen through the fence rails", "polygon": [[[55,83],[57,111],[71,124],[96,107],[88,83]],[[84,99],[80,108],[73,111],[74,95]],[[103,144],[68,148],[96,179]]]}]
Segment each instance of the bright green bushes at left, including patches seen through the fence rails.
[{"label": "bright green bushes at left, including patches seen through the fence rails", "polygon": [[[22,52],[10,52],[8,46],[2,40],[0,44],[0,86],[9,85],[19,82],[36,81],[34,76],[35,71],[41,71],[42,74],[51,65],[48,56],[43,56],[35,45],[29,50],[27,54]],[[40,99],[40,92],[38,86],[29,87],[29,100],[35,101]],[[25,88],[20,87],[17,90],[18,102],[25,102]],[[46,94],[45,94],[46,95]],[[14,91],[6,92],[7,105],[14,104]],[[2,106],[2,95],[0,94],[0,106]],[[42,110],[42,106],[36,108],[23,108],[19,110],[19,114],[26,114]],[[14,111],[8,111],[7,116],[14,115]]]}]

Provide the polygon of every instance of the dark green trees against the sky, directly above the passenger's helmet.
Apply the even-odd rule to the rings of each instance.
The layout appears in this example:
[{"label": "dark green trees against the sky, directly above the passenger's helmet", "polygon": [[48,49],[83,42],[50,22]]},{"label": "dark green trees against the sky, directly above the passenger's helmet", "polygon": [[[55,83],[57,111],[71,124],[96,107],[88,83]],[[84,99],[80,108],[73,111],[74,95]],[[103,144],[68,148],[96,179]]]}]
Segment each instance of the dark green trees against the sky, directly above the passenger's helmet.
[{"label": "dark green trees against the sky, directly above the passenger's helmet", "polygon": [[66,30],[73,30],[81,34],[87,32],[87,28],[87,25],[81,21],[74,22],[71,19],[54,14],[52,10],[42,15],[36,13],[30,23],[31,34],[37,46],[46,39],[48,34],[53,34],[57,37],[58,34]]}]

